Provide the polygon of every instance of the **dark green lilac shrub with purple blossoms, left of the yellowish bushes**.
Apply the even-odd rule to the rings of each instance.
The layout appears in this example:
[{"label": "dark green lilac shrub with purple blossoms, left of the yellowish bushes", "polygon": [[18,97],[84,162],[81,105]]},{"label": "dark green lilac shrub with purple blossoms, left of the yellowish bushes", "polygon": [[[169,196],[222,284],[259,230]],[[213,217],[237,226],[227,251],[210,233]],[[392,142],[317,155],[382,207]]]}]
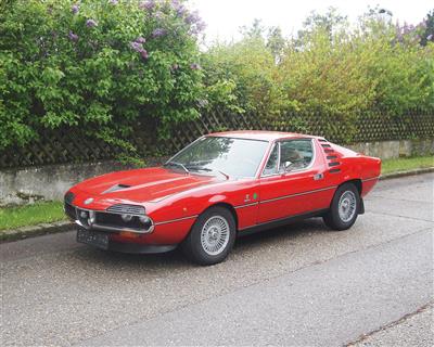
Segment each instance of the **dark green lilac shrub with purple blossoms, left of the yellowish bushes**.
[{"label": "dark green lilac shrub with purple blossoms, left of the yellowish bushes", "polygon": [[182,0],[14,0],[0,13],[0,150],[78,126],[119,145],[138,123],[162,134],[206,97]]}]

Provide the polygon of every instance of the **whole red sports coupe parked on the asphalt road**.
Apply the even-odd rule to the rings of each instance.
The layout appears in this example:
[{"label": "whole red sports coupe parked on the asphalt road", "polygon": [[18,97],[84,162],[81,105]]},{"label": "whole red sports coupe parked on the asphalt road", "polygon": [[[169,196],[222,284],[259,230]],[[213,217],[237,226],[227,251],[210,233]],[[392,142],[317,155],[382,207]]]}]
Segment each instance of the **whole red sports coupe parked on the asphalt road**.
[{"label": "whole red sports coupe parked on the asphalt road", "polygon": [[363,214],[379,158],[321,137],[272,131],[204,136],[161,167],[103,175],[65,194],[77,241],[161,253],[180,245],[201,265],[222,261],[237,235],[321,216],[334,230]]}]

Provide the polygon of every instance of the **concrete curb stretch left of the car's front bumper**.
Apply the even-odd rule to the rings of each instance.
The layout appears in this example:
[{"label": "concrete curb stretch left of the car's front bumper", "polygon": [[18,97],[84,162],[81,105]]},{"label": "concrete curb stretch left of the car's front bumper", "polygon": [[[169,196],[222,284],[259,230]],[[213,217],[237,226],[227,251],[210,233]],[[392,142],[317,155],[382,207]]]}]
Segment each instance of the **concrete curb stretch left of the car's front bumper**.
[{"label": "concrete curb stretch left of the car's front bumper", "polygon": [[68,220],[55,221],[52,223],[42,223],[30,227],[22,227],[12,230],[0,231],[0,243],[18,241],[22,239],[34,237],[44,234],[52,234],[69,230],[74,226]]}]

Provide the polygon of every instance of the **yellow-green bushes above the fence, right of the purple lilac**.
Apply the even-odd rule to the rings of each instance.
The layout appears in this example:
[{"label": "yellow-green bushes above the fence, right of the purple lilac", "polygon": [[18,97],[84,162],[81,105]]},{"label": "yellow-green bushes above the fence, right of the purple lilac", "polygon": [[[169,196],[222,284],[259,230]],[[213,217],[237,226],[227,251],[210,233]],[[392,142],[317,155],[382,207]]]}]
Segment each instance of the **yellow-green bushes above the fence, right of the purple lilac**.
[{"label": "yellow-green bushes above the fence, right of the purple lilac", "polygon": [[267,35],[255,21],[240,41],[207,51],[206,69],[213,72],[209,80],[234,81],[241,107],[271,118],[291,111],[333,114],[340,121],[368,111],[400,116],[434,106],[431,18],[400,26],[376,8],[352,27],[330,9],[311,13],[286,39],[276,28]]}]

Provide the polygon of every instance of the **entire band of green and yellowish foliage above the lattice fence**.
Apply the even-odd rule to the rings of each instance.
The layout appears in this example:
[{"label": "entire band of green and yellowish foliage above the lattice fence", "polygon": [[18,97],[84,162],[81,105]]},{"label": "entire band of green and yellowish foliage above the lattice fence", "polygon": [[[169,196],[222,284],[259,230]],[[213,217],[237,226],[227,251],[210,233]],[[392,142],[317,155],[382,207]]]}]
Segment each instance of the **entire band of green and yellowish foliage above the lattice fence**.
[{"label": "entire band of green and yellowish foliage above the lattice fence", "polygon": [[7,0],[0,11],[0,150],[43,128],[79,127],[133,151],[216,107],[294,125],[303,112],[354,121],[434,107],[433,14],[419,25],[370,9],[356,26],[330,9],[294,37],[256,20],[200,51],[183,0]]}]

